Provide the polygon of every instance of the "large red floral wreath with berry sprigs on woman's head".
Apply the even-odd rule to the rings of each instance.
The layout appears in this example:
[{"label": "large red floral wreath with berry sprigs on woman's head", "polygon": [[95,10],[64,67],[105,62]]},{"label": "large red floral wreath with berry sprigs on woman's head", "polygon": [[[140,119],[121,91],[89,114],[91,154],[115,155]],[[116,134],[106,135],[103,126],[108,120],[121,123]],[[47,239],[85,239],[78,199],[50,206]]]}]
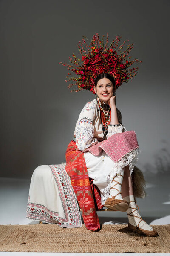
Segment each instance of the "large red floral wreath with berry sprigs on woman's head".
[{"label": "large red floral wreath with berry sprigs on woman's head", "polygon": [[[105,46],[103,42],[104,35],[102,40],[100,40],[99,34],[96,33],[96,35],[93,36],[90,45],[86,43],[85,38],[86,37],[83,36],[82,41],[79,41],[78,44],[79,51],[82,55],[81,59],[77,58],[73,53],[74,59],[69,57],[69,60],[73,65],[59,62],[63,66],[66,65],[69,71],[72,71],[78,75],[77,77],[73,77],[71,73],[68,73],[68,80],[65,81],[74,81],[73,84],[69,84],[68,88],[76,84],[78,89],[73,91],[77,92],[86,89],[95,94],[94,81],[95,78],[101,73],[111,74],[116,81],[117,87],[121,86],[123,82],[127,83],[130,79],[136,76],[139,67],[130,68],[130,66],[134,62],[142,61],[139,61],[139,59],[130,61],[131,57],[128,57],[134,44],[128,44],[126,50],[123,52],[121,51],[124,44],[129,40],[125,40],[117,49],[122,36],[116,36],[116,39],[111,42],[111,45],[108,48],[108,33]],[[87,50],[85,50],[84,45],[87,47]]]}]

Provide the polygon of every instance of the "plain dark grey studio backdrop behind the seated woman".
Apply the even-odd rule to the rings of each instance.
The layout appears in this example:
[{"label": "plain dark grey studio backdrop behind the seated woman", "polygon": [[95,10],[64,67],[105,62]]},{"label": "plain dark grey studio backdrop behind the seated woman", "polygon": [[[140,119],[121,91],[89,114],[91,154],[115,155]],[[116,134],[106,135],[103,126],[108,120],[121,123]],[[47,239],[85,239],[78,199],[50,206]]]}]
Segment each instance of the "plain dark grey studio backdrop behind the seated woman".
[{"label": "plain dark grey studio backdrop behind the seated woman", "polygon": [[59,62],[79,55],[82,35],[91,40],[96,32],[134,42],[131,56],[142,64],[116,91],[116,105],[136,132],[137,166],[148,179],[154,173],[154,183],[167,174],[169,13],[169,0],[1,0],[0,177],[31,178],[37,166],[65,161],[79,112],[94,95],[70,93]]}]

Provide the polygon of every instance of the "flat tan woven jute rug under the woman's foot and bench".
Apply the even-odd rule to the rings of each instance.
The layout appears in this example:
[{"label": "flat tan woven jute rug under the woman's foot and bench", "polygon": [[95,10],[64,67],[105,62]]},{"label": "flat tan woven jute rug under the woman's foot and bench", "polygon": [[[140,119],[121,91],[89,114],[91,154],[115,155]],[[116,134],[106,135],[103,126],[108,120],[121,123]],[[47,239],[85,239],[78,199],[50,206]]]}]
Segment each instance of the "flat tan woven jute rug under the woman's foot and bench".
[{"label": "flat tan woven jute rug under the woman's foot and bench", "polygon": [[126,230],[127,225],[103,225],[99,232],[57,225],[1,225],[0,251],[70,253],[170,253],[170,225],[152,225],[157,237]]}]

